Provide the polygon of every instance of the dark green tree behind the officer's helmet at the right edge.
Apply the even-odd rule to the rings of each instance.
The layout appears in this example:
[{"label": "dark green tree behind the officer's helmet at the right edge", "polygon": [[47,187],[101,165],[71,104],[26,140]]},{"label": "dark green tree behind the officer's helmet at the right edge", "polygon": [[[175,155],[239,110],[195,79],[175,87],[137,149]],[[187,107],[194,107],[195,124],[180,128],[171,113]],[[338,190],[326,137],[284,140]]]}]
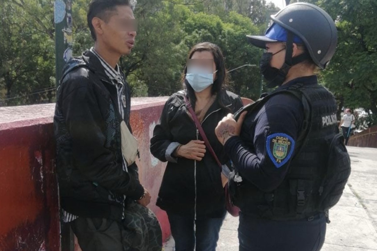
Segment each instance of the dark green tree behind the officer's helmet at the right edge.
[{"label": "dark green tree behind the officer's helmet at the right edge", "polygon": [[364,107],[377,114],[377,3],[373,0],[317,2],[336,20],[338,46],[325,85],[341,106]]}]

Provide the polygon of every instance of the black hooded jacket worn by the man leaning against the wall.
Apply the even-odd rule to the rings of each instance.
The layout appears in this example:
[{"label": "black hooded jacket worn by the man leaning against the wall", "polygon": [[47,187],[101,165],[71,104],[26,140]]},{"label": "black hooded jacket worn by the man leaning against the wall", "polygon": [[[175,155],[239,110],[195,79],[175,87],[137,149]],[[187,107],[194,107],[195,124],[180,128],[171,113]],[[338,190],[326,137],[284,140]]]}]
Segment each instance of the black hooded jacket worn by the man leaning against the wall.
[{"label": "black hooded jacket worn by the man leaning against the wall", "polygon": [[[123,94],[130,128],[127,83]],[[123,195],[143,195],[136,164],[128,173],[123,170],[120,122],[116,87],[97,56],[86,51],[71,59],[63,70],[54,116],[60,201],[67,212],[120,221]]]}]

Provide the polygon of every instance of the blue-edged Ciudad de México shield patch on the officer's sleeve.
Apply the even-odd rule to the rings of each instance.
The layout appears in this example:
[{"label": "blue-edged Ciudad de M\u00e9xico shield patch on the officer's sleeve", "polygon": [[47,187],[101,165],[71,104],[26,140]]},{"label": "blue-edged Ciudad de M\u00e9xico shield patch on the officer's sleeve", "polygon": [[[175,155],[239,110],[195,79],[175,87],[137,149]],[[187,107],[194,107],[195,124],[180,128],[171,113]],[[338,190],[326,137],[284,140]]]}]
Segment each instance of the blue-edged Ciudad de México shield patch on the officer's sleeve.
[{"label": "blue-edged Ciudad de M\u00e9xico shield patch on the officer's sleeve", "polygon": [[279,168],[291,158],[294,150],[294,140],[285,133],[274,133],[268,135],[266,148],[268,157],[270,157],[276,168]]}]

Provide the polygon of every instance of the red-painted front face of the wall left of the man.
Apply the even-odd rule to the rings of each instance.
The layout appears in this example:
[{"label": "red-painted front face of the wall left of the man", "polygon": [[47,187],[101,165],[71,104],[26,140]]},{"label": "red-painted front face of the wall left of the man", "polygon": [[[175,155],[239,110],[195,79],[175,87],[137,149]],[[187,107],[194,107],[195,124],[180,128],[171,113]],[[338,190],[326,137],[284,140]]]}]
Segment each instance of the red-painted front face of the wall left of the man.
[{"label": "red-painted front face of the wall left of the man", "polygon": [[60,247],[53,127],[36,122],[0,123],[1,251]]}]

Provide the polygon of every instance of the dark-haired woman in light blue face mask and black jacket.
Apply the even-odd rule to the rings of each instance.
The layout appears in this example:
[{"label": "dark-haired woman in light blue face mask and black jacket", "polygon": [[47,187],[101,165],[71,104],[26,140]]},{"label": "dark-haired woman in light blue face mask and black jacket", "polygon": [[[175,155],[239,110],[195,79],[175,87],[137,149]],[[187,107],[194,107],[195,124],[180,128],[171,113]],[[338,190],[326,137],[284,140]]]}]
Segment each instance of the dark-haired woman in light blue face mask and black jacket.
[{"label": "dark-haired woman in light blue face mask and black jacket", "polygon": [[200,43],[191,49],[183,82],[185,90],[169,97],[150,140],[152,154],[168,161],[156,204],[167,212],[176,251],[215,251],[226,212],[221,167],[188,107],[225,164],[229,159],[215,127],[226,114],[239,110],[242,101],[225,90],[224,57],[215,44]]}]

